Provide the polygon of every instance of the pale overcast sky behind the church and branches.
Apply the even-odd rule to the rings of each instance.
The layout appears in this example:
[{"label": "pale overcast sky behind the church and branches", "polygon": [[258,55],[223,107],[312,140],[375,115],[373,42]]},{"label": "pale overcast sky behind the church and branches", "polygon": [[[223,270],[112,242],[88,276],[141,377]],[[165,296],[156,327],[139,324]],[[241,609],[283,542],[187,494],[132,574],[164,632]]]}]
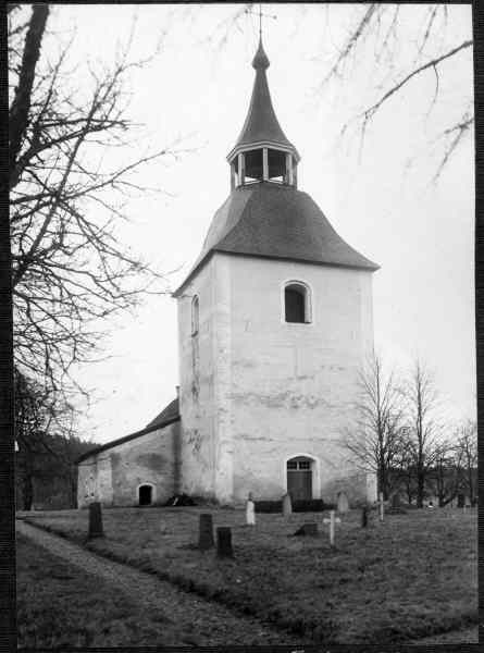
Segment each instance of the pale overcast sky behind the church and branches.
[{"label": "pale overcast sky behind the church and branches", "polygon": [[[72,60],[80,62],[75,72],[79,86],[88,84],[83,65],[112,61],[133,16],[133,59],[152,52],[161,39],[154,59],[129,77],[131,114],[146,125],[139,151],[148,143],[174,146],[179,153],[145,168],[139,181],[164,193],[133,198],[132,222],[120,225],[119,234],[161,269],[182,267],[171,276],[173,288],[229,193],[225,157],[247,113],[258,39],[257,20],[250,15],[226,34],[225,21],[239,9],[228,3],[57,5],[50,21],[50,29],[64,39],[76,27]],[[412,56],[424,10],[402,8],[397,64]],[[420,356],[435,372],[447,416],[474,417],[472,134],[438,183],[432,183],[442,155],[436,137],[472,100],[472,52],[442,66],[432,110],[432,71],[385,103],[367,131],[360,156],[357,132],[342,137],[340,130],[376,97],[374,49],[361,50],[355,69],[338,83],[321,82],[361,5],[273,4],[263,11],[277,16],[264,21],[269,84],[280,123],[301,155],[299,188],[352,247],[381,266],[373,276],[377,348],[402,368]],[[438,47],[445,51],[446,44],[470,35],[471,7],[449,5]],[[53,52],[54,40],[46,39],[44,56]],[[382,65],[385,61],[380,71]],[[136,316],[117,320],[104,354],[107,360],[76,370],[96,398],[79,418],[80,435],[97,442],[141,429],[174,398],[176,301],[150,297]]]}]

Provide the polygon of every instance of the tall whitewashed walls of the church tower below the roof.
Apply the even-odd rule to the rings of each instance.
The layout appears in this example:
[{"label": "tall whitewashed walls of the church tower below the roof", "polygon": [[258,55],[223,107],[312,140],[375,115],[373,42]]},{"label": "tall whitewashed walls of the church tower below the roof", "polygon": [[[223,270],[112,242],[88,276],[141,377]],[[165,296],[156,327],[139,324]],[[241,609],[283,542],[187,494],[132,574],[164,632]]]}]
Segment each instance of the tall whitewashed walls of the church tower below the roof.
[{"label": "tall whitewashed walls of the church tower below the roof", "polygon": [[[278,498],[287,459],[309,455],[314,497],[335,501],[340,490],[351,501],[369,494],[371,483],[347,460],[340,440],[357,370],[373,346],[371,276],[213,255],[179,298],[184,491],[222,503],[241,502],[249,491]],[[288,281],[311,288],[310,324],[285,323]]]}]

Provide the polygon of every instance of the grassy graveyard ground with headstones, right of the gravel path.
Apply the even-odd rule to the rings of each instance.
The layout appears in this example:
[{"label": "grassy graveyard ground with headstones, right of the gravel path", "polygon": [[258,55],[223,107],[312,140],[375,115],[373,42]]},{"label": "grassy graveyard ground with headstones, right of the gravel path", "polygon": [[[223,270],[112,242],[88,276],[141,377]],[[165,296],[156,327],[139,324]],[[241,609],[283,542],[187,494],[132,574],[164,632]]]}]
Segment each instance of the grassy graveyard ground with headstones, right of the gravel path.
[{"label": "grassy graveyard ground with headstones, right of the gravel path", "polygon": [[[208,512],[215,528],[232,528],[233,558],[198,550],[199,516]],[[103,510],[104,537],[89,541],[87,510],[25,517],[98,555],[169,580],[190,592],[187,597],[255,617],[278,631],[281,644],[477,641],[476,509],[409,509],[386,515],[383,523],[372,513],[367,529],[360,512],[350,510],[336,525],[334,549],[323,523],[327,513],[288,519],[257,514],[256,527],[249,527],[243,510],[112,508]],[[291,537],[309,521],[321,534]],[[97,600],[102,587],[90,587]],[[459,633],[461,640],[452,639]]]}]

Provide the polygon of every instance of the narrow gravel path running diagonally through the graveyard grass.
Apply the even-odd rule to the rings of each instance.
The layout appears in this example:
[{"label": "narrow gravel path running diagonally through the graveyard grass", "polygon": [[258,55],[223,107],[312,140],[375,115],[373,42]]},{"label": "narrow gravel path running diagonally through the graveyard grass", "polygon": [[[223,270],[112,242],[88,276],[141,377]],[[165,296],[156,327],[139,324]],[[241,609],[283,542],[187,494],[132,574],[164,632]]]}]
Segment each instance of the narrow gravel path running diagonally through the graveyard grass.
[{"label": "narrow gravel path running diagonally through the graveyard grass", "polygon": [[[139,605],[154,607],[184,633],[179,644],[298,644],[294,636],[271,629],[251,617],[238,617],[218,603],[184,592],[170,582],[97,556],[72,542],[17,520],[18,533],[97,578],[111,582]],[[95,586],[94,586],[94,591]]]}]

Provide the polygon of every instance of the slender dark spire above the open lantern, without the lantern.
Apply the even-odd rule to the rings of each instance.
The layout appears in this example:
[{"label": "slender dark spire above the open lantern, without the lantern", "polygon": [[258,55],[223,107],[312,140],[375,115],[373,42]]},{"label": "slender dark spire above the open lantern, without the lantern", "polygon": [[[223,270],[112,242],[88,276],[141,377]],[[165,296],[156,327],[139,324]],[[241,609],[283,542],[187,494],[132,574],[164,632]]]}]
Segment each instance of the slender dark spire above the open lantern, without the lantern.
[{"label": "slender dark spire above the open lantern, without the lantern", "polygon": [[297,150],[284,134],[272,106],[265,74],[269,65],[269,58],[265,54],[262,45],[262,35],[260,34],[259,47],[252,60],[252,66],[256,69],[256,79],[253,82],[249,111],[237,143],[227,157],[228,160],[232,160],[240,148],[246,149],[250,145],[257,147],[261,143],[275,148],[280,146],[286,151],[294,153],[296,159],[299,160]]}]

